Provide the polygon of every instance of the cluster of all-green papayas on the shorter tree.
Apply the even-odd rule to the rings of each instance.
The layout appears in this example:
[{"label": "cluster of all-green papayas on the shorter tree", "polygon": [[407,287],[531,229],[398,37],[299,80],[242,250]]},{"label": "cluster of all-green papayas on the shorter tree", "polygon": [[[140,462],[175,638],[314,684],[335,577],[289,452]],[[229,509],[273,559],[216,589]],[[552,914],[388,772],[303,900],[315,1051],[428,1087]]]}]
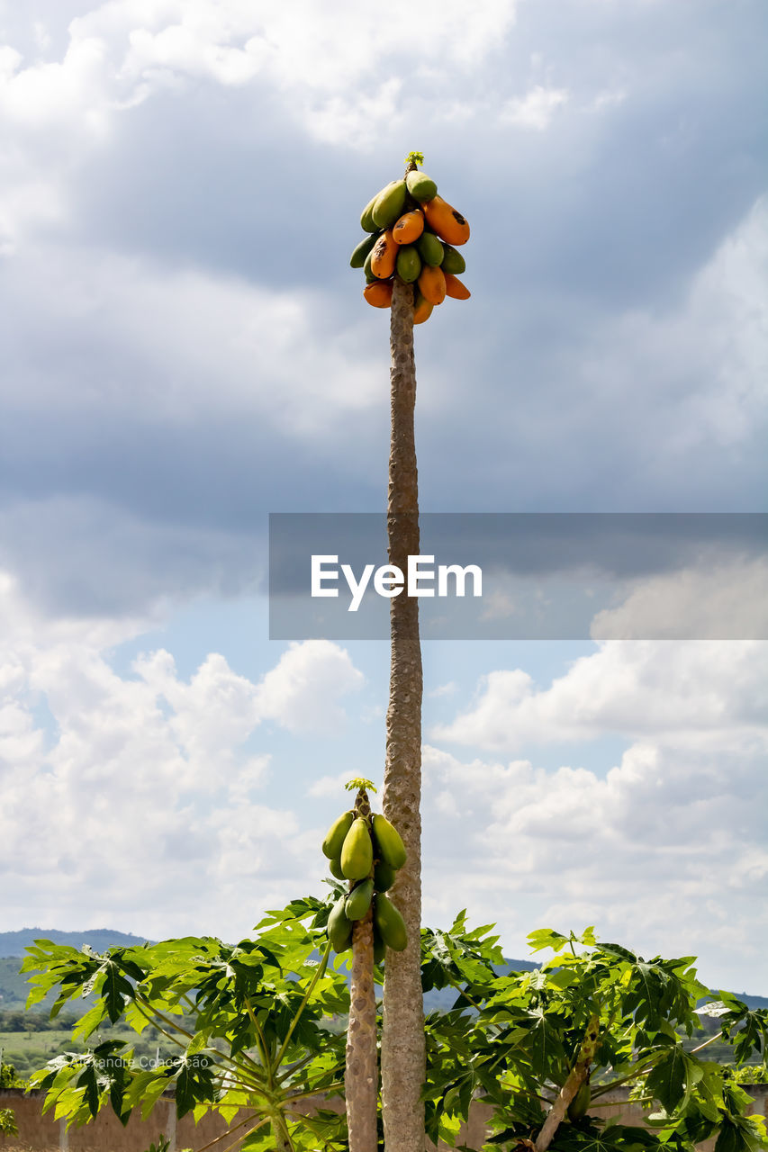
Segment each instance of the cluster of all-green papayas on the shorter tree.
[{"label": "cluster of all-green papayas on the shorter tree", "polygon": [[332,874],[352,882],[329,916],[327,935],[333,950],[352,947],[354,922],[361,920],[372,905],[375,962],[381,964],[386,948],[402,952],[408,942],[405,920],[384,895],[406,861],[397,828],[378,813],[366,817],[344,812],[329,828],[323,854],[331,862]]}]

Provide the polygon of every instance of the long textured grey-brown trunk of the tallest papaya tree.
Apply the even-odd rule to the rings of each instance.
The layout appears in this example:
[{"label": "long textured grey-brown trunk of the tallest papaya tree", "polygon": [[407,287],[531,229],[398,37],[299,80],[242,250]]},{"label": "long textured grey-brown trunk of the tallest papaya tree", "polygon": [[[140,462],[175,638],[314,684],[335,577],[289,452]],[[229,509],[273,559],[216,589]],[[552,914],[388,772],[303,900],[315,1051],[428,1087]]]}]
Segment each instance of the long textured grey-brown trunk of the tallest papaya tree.
[{"label": "long textured grey-brown trunk of the tallest papaya tree", "polygon": [[[392,439],[387,500],[391,564],[404,573],[419,555],[419,494],[414,439],[416,372],[413,288],[397,276],[390,348]],[[405,952],[386,952],[382,1029],[382,1104],[386,1152],[423,1152],[424,1018],[421,993],[421,696],[419,601],[405,592],[390,601],[391,670],[386,713],[384,816],[402,836],[408,857],[390,893],[408,930]]]}]

